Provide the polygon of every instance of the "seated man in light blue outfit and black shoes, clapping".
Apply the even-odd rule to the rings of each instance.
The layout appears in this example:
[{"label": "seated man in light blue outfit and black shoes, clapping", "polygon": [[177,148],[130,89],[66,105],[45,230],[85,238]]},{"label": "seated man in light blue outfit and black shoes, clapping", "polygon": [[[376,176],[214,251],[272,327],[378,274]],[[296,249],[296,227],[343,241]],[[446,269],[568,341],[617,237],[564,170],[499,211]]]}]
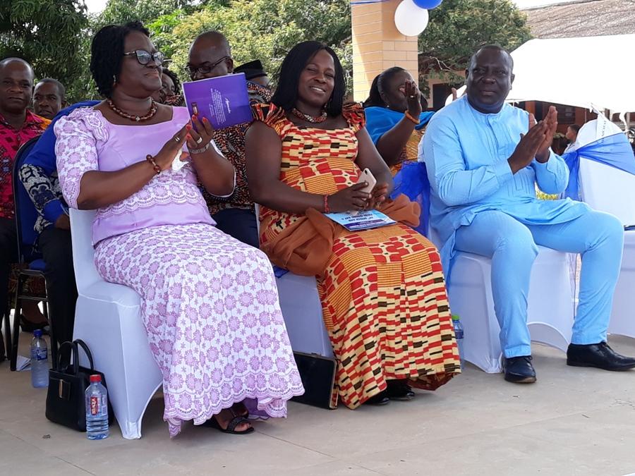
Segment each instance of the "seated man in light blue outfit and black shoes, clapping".
[{"label": "seated man in light blue outfit and black shoes, clapping", "polygon": [[444,269],[451,269],[457,250],[492,259],[505,379],[531,383],[536,372],[526,320],[536,245],[580,253],[579,305],[567,364],[634,368],[634,358],[606,343],[622,262],[622,224],[581,202],[536,198],[535,183],[545,193],[560,193],[569,171],[550,150],[555,108],[536,124],[526,111],[504,103],[513,66],[504,49],[479,49],[466,70],[466,95],[435,114],[423,138],[432,188],[430,224],[442,239]]}]

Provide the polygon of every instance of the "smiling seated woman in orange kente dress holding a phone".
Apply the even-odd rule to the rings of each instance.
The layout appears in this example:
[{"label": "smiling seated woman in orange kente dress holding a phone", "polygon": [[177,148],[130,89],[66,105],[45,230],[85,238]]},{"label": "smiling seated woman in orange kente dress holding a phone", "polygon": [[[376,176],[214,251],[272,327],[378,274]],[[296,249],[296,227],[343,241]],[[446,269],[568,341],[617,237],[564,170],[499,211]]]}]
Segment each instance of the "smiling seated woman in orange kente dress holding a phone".
[{"label": "smiling seated woman in orange kente dress holding a phone", "polygon": [[[361,105],[342,106],[332,49],[303,42],[282,63],[272,104],[253,106],[246,157],[260,208],[260,243],[274,264],[317,276],[337,358],[334,398],[349,408],[434,390],[460,372],[439,255],[406,224],[346,231],[322,212],[378,207],[416,221],[405,197],[386,200],[392,175]],[[377,179],[356,185],[360,169]]]}]

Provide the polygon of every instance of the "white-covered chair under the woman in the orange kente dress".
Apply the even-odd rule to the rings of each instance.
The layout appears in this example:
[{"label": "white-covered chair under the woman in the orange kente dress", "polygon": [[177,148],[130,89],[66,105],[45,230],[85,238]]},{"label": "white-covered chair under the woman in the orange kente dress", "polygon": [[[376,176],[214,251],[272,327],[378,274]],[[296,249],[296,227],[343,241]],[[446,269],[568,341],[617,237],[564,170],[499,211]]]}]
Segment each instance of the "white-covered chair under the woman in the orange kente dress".
[{"label": "white-covered chair under the woman in the orange kente dress", "polygon": [[[255,204],[260,233],[260,207]],[[291,350],[333,358],[333,347],[322,317],[322,302],[315,276],[298,276],[291,271],[276,278],[280,309],[289,334]]]}]

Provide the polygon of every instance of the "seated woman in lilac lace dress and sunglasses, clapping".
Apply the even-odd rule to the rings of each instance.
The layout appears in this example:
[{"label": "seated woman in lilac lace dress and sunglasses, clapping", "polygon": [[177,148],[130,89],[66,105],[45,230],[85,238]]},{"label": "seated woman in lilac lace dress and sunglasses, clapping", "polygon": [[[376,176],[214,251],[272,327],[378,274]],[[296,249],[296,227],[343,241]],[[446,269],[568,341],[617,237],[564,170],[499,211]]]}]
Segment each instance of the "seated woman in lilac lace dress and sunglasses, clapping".
[{"label": "seated woman in lilac lace dress and sunglasses, clapping", "polygon": [[97,209],[99,274],[141,296],[170,435],[184,420],[248,433],[245,399],[284,417],[303,388],[269,260],[215,228],[197,187],[229,195],[234,169],[208,123],[152,102],[161,63],[140,23],[97,33],[90,68],[107,100],[56,124],[60,183],[71,207]]}]

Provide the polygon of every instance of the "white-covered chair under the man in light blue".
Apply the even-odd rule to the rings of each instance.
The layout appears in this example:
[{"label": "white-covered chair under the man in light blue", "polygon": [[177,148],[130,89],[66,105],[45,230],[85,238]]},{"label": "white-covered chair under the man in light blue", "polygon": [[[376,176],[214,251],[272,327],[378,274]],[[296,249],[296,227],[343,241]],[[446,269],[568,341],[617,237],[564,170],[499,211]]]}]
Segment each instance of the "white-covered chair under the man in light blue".
[{"label": "white-covered chair under the man in light blue", "polygon": [[[440,240],[430,228],[430,240]],[[450,310],[463,324],[464,359],[488,373],[502,371],[500,326],[492,298],[492,260],[458,252],[447,290]],[[527,324],[531,340],[563,352],[571,342],[574,303],[569,282],[567,253],[538,246],[531,269]]]}]

